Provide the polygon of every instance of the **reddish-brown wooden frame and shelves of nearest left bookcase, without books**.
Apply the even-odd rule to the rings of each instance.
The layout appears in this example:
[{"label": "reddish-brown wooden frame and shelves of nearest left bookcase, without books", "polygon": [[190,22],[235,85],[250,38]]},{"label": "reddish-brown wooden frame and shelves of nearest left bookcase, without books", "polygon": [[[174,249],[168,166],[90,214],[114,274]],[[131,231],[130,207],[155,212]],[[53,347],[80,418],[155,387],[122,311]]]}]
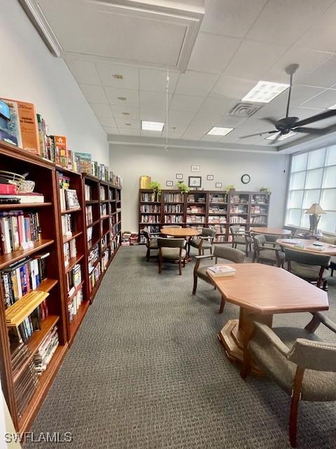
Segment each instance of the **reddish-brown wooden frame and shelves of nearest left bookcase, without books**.
[{"label": "reddish-brown wooden frame and shelves of nearest left bookcase, without books", "polygon": [[[34,256],[38,253],[50,253],[45,258],[46,279],[40,283],[39,292],[47,292],[45,301],[48,305],[49,316],[41,321],[41,330],[34,331],[26,342],[32,351],[32,355],[38,350],[45,335],[57,323],[57,335],[59,346],[52,356],[45,372],[38,376],[38,387],[31,396],[27,407],[21,417],[18,415],[18,397],[15,397],[15,383],[20,374],[25,372],[29,361],[23,363],[20,370],[13,372],[8,344],[8,327],[6,326],[6,309],[3,288],[0,288],[0,373],[3,394],[13,418],[15,429],[18,432],[26,431],[34,419],[39,406],[43,401],[48,386],[55,377],[62,363],[62,358],[68,347],[66,332],[66,307],[62,288],[62,236],[59,228],[59,203],[57,201],[57,176],[55,165],[44,161],[38,156],[31,155],[22,149],[0,142],[0,169],[15,173],[29,173],[29,180],[36,183],[35,191],[44,195],[44,203],[1,205],[1,211],[24,210],[25,213],[38,212],[41,239],[34,242],[34,246],[25,250],[15,250],[12,253],[0,255],[0,269],[6,269],[24,257]],[[26,297],[27,298],[27,297]],[[16,304],[16,303],[15,303]],[[27,313],[30,311],[27,304]],[[31,356],[32,357],[32,356]]]}]

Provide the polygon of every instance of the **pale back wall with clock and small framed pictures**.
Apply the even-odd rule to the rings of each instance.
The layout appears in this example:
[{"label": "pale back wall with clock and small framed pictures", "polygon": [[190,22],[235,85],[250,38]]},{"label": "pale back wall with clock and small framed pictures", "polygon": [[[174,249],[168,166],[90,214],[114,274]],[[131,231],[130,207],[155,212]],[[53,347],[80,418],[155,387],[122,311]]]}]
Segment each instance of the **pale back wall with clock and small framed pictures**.
[{"label": "pale back wall with clock and small framed pictures", "polygon": [[[183,173],[183,180],[188,185],[188,176],[193,175],[190,166],[199,165],[202,187],[215,189],[215,182],[235,185],[236,190],[257,190],[261,186],[272,191],[269,210],[269,226],[283,225],[286,207],[287,156],[274,154],[246,153],[235,151],[217,151],[200,149],[169,149],[110,145],[110,168],[123,176],[122,191],[122,227],[123,230],[138,232],[139,213],[139,177],[151,176],[152,181],[161,183],[163,189],[166,181],[172,180],[176,186],[176,173]],[[286,168],[286,173],[283,170]],[[251,182],[241,183],[241,175],[248,173]],[[214,175],[214,181],[207,181],[207,175]]]}]

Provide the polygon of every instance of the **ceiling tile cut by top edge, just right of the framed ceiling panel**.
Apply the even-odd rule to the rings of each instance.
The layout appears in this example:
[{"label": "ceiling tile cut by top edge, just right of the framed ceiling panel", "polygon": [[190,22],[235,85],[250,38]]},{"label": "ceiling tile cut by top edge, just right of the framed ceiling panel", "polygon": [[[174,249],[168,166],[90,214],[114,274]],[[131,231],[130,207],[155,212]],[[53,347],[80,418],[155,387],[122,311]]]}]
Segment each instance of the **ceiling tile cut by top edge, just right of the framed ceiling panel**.
[{"label": "ceiling tile cut by top edge, just right of the framed ceiling panel", "polygon": [[201,30],[245,36],[267,0],[206,0]]}]

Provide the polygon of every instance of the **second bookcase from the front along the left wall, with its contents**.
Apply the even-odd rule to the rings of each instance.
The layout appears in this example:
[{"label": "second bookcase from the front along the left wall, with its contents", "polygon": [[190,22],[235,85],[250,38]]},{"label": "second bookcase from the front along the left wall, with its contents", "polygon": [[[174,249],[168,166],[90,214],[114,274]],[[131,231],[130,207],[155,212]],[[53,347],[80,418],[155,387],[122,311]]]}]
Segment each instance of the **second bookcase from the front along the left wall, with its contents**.
[{"label": "second bookcase from the front along the left wall, with its contents", "polygon": [[87,264],[85,263],[85,220],[83,183],[79,173],[57,168],[62,230],[63,288],[66,324],[71,344],[89,307]]}]

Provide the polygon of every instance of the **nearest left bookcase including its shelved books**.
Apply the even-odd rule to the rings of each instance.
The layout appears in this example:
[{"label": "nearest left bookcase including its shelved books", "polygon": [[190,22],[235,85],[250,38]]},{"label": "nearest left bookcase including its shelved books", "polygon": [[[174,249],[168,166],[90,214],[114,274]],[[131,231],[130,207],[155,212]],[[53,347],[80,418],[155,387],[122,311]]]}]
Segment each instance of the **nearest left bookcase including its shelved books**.
[{"label": "nearest left bookcase including its shelved books", "polygon": [[68,347],[57,177],[55,164],[3,142],[0,160],[0,170],[29,173],[39,201],[0,207],[1,383],[15,429],[22,432]]}]

